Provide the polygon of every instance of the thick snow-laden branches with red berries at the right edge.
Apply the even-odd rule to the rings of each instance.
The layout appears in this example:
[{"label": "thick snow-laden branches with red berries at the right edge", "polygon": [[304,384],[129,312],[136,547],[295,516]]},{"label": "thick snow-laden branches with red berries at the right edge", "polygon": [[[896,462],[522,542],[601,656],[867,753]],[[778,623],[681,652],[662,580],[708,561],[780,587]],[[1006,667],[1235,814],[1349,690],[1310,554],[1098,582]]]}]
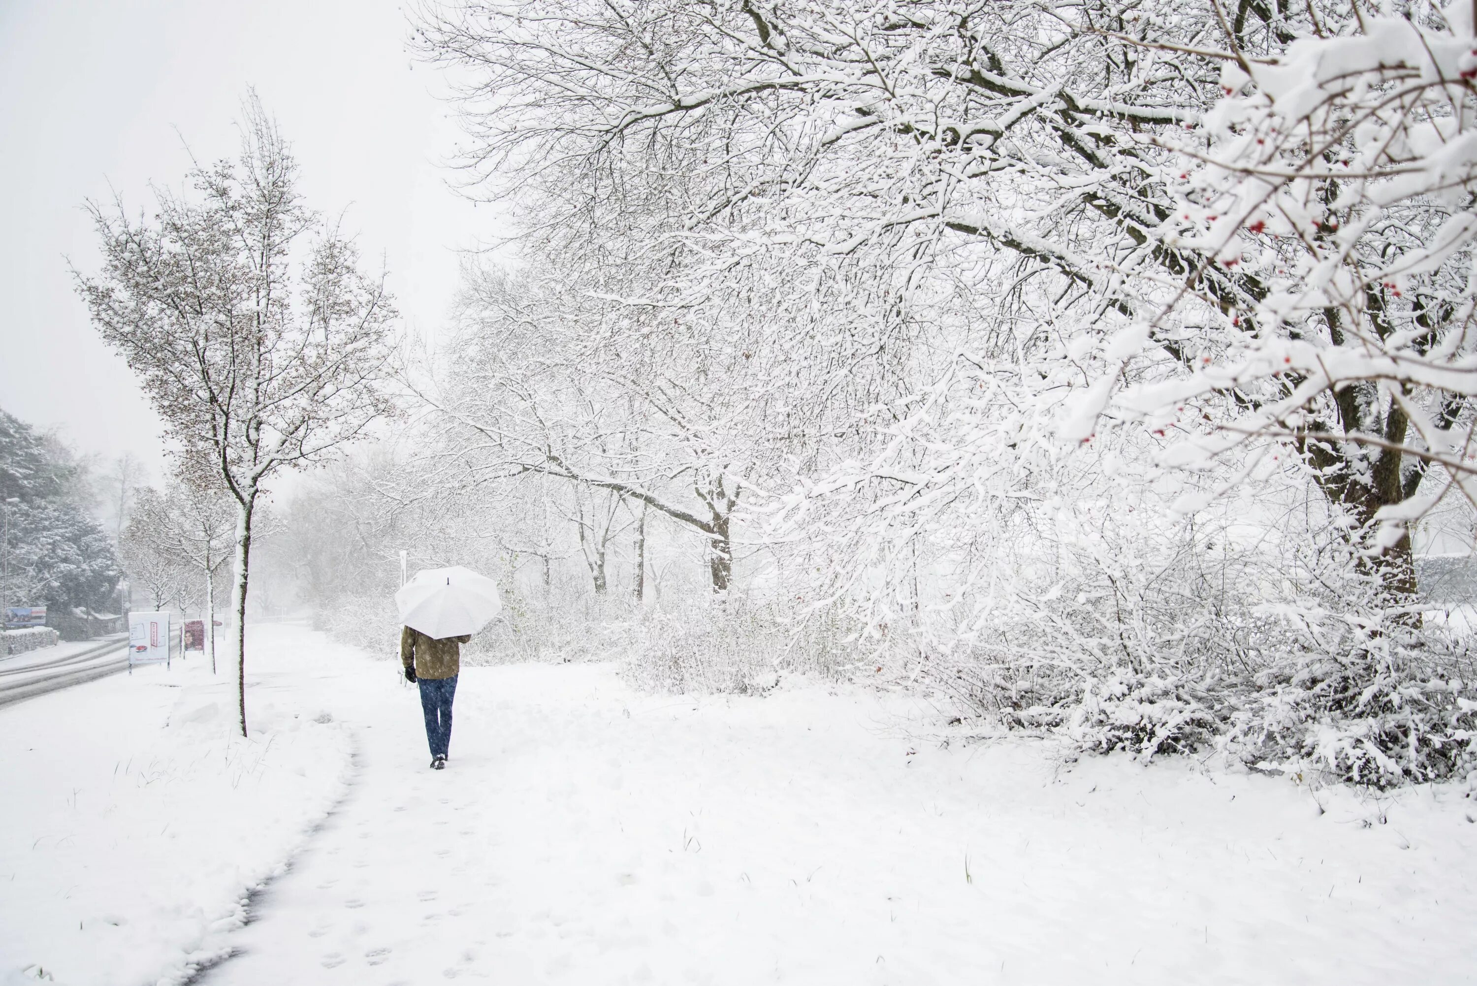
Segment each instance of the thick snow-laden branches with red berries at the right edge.
[{"label": "thick snow-laden branches with red berries at the right edge", "polygon": [[[1276,53],[1227,32],[1202,128],[1156,140],[1183,168],[1165,241],[1201,260],[1148,325],[1202,357],[1125,388],[1117,412],[1165,427],[1232,396],[1171,461],[1291,444],[1360,525],[1387,521],[1371,551],[1394,549],[1409,590],[1406,523],[1450,490],[1477,502],[1477,38],[1464,3],[1316,13]],[[1226,270],[1254,286],[1238,303],[1204,289]]]}]

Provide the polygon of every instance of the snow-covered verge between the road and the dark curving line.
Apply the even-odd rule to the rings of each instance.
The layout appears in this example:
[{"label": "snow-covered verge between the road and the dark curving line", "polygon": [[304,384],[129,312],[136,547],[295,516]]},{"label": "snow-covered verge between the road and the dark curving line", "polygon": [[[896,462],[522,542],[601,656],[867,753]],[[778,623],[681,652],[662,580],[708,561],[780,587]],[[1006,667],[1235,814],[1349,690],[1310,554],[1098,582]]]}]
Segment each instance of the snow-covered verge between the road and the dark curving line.
[{"label": "snow-covered verge between the road and the dark curving line", "polygon": [[177,980],[223,952],[343,794],[352,734],[315,722],[312,676],[363,663],[303,657],[260,649],[250,740],[198,654],[0,709],[0,983]]}]

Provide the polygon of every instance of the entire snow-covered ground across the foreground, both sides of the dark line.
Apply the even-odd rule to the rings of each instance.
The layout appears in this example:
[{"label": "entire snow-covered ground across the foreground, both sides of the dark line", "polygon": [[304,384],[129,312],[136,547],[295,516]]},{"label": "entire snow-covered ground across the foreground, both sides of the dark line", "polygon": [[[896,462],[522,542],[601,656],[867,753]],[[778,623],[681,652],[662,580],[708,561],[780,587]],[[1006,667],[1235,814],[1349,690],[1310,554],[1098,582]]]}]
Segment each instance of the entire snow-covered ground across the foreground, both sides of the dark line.
[{"label": "entire snow-covered ground across the foreground, both sides of the dark line", "polygon": [[467,669],[431,772],[393,663],[253,645],[251,741],[198,669],[0,710],[0,970],[148,983],[229,948],[201,983],[1477,976],[1462,790],[944,745],[905,700],[648,697],[610,666]]}]

